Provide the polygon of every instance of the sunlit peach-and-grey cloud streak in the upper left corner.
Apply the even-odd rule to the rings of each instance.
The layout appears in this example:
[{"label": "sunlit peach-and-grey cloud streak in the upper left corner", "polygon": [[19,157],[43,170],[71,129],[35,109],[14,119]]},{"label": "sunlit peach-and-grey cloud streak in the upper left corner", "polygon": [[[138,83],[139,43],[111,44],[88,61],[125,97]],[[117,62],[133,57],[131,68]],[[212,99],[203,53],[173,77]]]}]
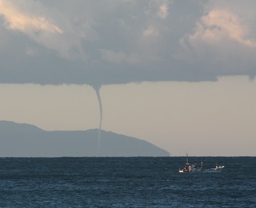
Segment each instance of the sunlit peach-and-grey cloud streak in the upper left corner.
[{"label": "sunlit peach-and-grey cloud streak in the upper left corner", "polygon": [[[17,3],[17,4],[16,4]],[[36,14],[36,11],[47,10],[39,2],[34,1],[4,1],[0,0],[0,14],[5,18],[5,27],[9,30],[20,31],[37,43],[53,50],[62,58],[85,59],[80,41],[75,38],[68,28],[64,30],[47,14]]]}]

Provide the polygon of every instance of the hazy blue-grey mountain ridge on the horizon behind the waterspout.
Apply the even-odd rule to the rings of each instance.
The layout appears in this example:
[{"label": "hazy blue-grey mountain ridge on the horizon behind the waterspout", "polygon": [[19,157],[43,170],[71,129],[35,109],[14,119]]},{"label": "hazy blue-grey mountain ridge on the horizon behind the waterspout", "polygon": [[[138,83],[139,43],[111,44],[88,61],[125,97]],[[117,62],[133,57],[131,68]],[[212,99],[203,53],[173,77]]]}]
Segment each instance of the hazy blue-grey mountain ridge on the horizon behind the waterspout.
[{"label": "hazy blue-grey mountain ridge on the horizon behind the waterspout", "polygon": [[0,157],[169,156],[155,145],[113,132],[45,131],[34,125],[0,121]]}]

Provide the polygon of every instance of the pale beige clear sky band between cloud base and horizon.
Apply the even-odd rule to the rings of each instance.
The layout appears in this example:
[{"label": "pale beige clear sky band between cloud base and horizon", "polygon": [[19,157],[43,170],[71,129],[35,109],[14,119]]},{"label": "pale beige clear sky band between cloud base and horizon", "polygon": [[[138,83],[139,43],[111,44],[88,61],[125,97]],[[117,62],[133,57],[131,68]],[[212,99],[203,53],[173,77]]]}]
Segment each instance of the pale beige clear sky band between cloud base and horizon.
[{"label": "pale beige clear sky band between cloud base and horizon", "polygon": [[[171,156],[186,152],[195,156],[255,156],[256,98],[251,96],[255,88],[256,81],[246,77],[205,83],[103,85],[102,129],[148,141]],[[237,97],[238,93],[242,96]],[[0,85],[0,96],[6,97],[1,120],[48,131],[99,127],[97,96],[88,85],[4,84]],[[154,117],[153,112],[148,113],[152,110]]]}]

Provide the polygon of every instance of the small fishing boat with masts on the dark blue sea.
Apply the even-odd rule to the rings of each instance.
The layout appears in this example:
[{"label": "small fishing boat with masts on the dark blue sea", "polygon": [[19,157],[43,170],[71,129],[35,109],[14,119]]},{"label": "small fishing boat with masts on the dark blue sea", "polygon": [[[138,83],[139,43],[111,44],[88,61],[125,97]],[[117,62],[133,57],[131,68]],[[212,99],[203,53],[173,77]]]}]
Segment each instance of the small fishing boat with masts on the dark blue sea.
[{"label": "small fishing boat with masts on the dark blue sea", "polygon": [[222,169],[225,167],[225,166],[216,165],[216,167],[214,167],[214,168],[205,169],[203,167],[203,162],[201,162],[201,166],[194,165],[194,164],[190,165],[188,163],[187,154],[186,154],[186,157],[187,157],[187,163],[185,164],[185,166],[182,169],[179,168],[179,173],[186,173],[186,172],[189,172],[189,173],[220,173],[220,172],[222,172]]}]

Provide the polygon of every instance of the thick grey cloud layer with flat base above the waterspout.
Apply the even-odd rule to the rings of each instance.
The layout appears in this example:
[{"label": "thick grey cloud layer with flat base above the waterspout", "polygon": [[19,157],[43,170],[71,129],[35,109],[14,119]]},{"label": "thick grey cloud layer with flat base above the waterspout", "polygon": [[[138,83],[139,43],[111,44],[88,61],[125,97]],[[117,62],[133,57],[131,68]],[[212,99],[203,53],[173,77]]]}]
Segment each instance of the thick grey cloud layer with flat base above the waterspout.
[{"label": "thick grey cloud layer with flat base above the waterspout", "polygon": [[0,82],[98,86],[253,78],[255,6],[0,0]]}]

